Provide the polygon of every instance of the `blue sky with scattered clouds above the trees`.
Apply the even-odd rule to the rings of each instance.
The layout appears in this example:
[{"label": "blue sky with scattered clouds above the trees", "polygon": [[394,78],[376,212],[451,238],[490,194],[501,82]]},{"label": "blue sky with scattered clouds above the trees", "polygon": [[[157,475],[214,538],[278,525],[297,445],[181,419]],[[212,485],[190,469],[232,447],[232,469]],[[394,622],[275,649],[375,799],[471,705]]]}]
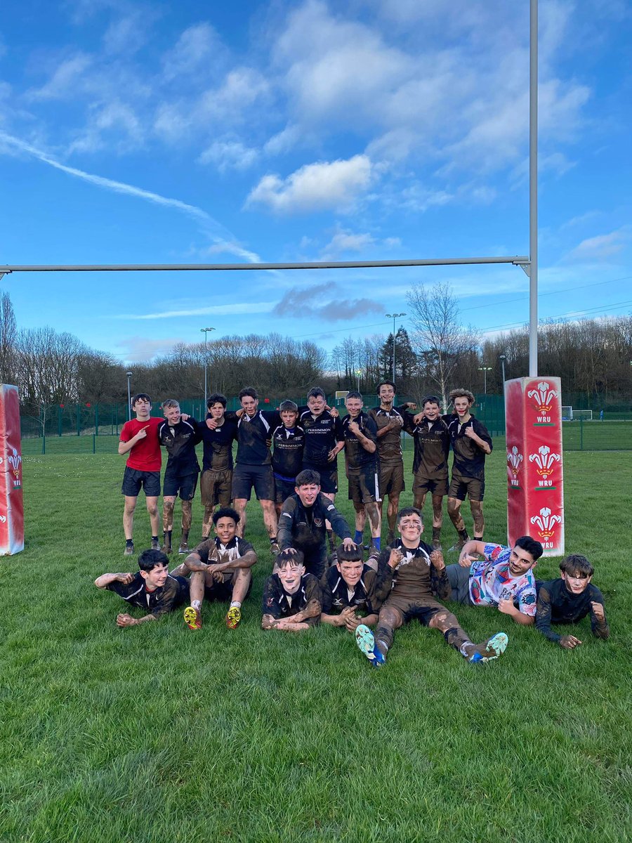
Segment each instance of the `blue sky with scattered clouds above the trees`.
[{"label": "blue sky with scattered clouds above the trees", "polygon": [[[539,314],[632,309],[632,12],[540,3]],[[5,0],[0,264],[528,255],[528,0]],[[20,327],[121,361],[388,333],[415,279],[489,336],[513,266],[13,274]],[[399,320],[410,327],[409,319]]]}]

